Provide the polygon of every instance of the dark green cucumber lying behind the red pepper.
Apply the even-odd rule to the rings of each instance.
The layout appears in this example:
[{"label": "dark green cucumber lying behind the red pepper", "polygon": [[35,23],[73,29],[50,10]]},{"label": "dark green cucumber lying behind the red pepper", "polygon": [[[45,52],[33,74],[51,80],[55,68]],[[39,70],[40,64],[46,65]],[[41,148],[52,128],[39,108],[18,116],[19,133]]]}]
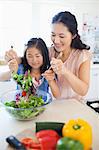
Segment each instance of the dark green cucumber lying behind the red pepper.
[{"label": "dark green cucumber lying behind the red pepper", "polygon": [[64,123],[62,122],[36,122],[36,132],[40,130],[55,130],[60,136],[62,136],[62,128]]}]

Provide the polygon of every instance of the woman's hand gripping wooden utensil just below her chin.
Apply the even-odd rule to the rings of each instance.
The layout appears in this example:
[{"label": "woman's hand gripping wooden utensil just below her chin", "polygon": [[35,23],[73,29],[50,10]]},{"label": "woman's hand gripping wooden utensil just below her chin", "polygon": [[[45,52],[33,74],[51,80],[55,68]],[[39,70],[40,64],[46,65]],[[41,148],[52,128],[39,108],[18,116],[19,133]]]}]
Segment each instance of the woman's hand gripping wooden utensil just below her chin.
[{"label": "woman's hand gripping wooden utensil just below her chin", "polygon": [[65,67],[61,59],[52,58],[51,68],[56,74],[64,74]]}]

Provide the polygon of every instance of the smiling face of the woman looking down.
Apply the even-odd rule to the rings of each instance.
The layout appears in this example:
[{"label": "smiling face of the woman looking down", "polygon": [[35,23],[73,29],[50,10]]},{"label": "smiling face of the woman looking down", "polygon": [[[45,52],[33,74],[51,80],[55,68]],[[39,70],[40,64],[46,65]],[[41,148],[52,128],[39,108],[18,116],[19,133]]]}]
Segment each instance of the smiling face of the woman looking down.
[{"label": "smiling face of the woman looking down", "polygon": [[64,24],[52,24],[51,40],[58,52],[70,49],[72,38],[71,32]]}]

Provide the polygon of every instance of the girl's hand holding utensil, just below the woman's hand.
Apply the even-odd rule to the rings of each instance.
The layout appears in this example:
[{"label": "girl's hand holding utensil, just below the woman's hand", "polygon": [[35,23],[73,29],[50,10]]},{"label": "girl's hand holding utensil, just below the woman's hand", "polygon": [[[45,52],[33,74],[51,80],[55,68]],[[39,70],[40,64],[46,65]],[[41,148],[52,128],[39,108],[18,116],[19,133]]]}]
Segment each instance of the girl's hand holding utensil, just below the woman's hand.
[{"label": "girl's hand holding utensil, just below the woman's hand", "polygon": [[45,79],[48,82],[50,82],[50,81],[55,79],[55,73],[53,72],[53,70],[50,70],[50,69],[46,70],[42,75],[45,77]]}]

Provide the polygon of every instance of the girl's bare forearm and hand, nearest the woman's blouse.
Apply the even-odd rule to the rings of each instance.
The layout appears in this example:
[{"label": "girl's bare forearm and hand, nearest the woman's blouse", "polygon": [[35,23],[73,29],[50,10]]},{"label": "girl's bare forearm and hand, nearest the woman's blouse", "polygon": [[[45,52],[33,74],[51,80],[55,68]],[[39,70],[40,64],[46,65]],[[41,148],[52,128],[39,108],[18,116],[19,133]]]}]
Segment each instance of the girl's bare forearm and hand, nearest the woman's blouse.
[{"label": "girl's bare forearm and hand, nearest the woman's blouse", "polygon": [[51,92],[55,98],[60,97],[60,89],[55,80],[55,73],[52,70],[47,70],[42,74],[49,83]]}]

